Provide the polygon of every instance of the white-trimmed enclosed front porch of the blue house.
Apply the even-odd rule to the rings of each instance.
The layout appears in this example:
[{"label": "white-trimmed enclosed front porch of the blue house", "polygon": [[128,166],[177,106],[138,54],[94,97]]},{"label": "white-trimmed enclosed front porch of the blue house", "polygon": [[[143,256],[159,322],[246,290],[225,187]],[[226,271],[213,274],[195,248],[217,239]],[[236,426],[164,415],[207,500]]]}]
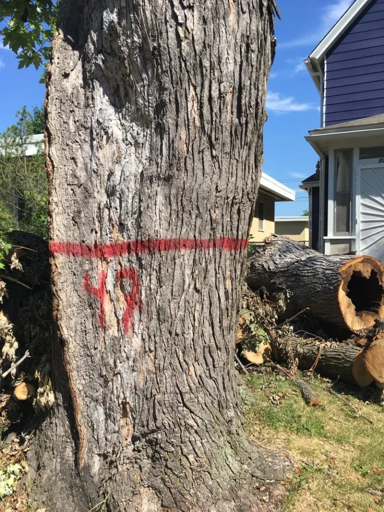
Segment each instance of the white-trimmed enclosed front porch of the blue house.
[{"label": "white-trimmed enclosed front porch of the blue house", "polygon": [[312,247],[384,262],[384,115],[309,133],[306,139],[321,159],[318,177],[302,183],[310,197]]}]

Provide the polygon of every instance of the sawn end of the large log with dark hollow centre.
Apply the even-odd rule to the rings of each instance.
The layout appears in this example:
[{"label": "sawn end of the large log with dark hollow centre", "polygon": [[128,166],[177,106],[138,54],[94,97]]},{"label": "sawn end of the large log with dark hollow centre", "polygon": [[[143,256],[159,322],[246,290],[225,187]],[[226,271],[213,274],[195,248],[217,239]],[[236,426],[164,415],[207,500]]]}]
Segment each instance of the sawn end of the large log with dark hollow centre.
[{"label": "sawn end of the large log with dark hollow centre", "polygon": [[360,256],[340,268],[338,302],[351,331],[373,327],[384,316],[384,267],[371,256]]}]

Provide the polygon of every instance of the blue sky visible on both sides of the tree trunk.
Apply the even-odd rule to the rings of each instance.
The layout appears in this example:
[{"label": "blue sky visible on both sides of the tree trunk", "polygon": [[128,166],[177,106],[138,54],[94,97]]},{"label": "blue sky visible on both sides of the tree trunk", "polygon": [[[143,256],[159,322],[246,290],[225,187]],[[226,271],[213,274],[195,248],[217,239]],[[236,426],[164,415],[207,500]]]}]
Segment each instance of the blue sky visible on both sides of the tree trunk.
[{"label": "blue sky visible on both sides of the tree trunk", "polygon": [[[300,215],[307,194],[298,188],[314,172],[317,157],[304,136],[320,123],[319,94],[303,59],[321,41],[353,0],[280,0],[276,20],[278,47],[268,84],[268,121],[264,132],[264,167],[270,176],[296,190],[295,203],[278,203],[276,215]],[[34,68],[17,69],[14,54],[0,47],[0,131],[14,121],[22,105],[44,100],[44,86]]]}]

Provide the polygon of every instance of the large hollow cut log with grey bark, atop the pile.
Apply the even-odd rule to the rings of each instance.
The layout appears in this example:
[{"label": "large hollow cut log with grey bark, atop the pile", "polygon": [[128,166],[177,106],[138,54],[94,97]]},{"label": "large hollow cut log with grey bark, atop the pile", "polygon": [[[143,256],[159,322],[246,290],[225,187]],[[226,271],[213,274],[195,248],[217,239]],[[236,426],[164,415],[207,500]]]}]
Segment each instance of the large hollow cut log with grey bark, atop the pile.
[{"label": "large hollow cut log with grey bark, atop the pile", "polygon": [[255,251],[248,285],[265,288],[281,319],[309,307],[309,315],[358,332],[384,316],[384,266],[375,258],[326,256],[275,235]]}]

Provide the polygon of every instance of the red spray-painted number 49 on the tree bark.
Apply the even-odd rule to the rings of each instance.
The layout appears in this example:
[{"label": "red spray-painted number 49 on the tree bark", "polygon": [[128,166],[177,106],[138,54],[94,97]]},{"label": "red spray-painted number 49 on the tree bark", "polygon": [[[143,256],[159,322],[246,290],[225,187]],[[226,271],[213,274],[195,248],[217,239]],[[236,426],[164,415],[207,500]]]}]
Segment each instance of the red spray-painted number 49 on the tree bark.
[{"label": "red spray-painted number 49 on the tree bark", "polygon": [[[131,285],[131,291],[124,293],[125,309],[121,321],[124,332],[128,334],[132,329],[134,313],[139,306],[142,306],[140,278],[134,268],[124,268],[117,272],[117,283],[120,284],[123,280],[129,281]],[[97,297],[100,301],[99,324],[103,330],[105,330],[105,281],[106,272],[105,270],[101,270],[99,273],[98,288],[91,284],[88,271],[86,271],[86,277],[83,282],[86,291]]]}]

